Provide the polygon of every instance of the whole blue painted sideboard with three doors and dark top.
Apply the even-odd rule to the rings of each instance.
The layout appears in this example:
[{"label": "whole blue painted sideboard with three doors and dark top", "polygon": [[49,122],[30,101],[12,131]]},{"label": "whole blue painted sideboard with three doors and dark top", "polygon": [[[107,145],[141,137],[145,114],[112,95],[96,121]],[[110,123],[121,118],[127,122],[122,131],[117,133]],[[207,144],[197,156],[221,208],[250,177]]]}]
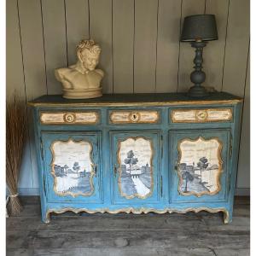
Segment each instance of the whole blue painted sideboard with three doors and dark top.
[{"label": "whole blue painted sideboard with three doors and dark top", "polygon": [[224,92],[41,96],[33,108],[50,212],[224,212],[232,220],[242,99]]}]

